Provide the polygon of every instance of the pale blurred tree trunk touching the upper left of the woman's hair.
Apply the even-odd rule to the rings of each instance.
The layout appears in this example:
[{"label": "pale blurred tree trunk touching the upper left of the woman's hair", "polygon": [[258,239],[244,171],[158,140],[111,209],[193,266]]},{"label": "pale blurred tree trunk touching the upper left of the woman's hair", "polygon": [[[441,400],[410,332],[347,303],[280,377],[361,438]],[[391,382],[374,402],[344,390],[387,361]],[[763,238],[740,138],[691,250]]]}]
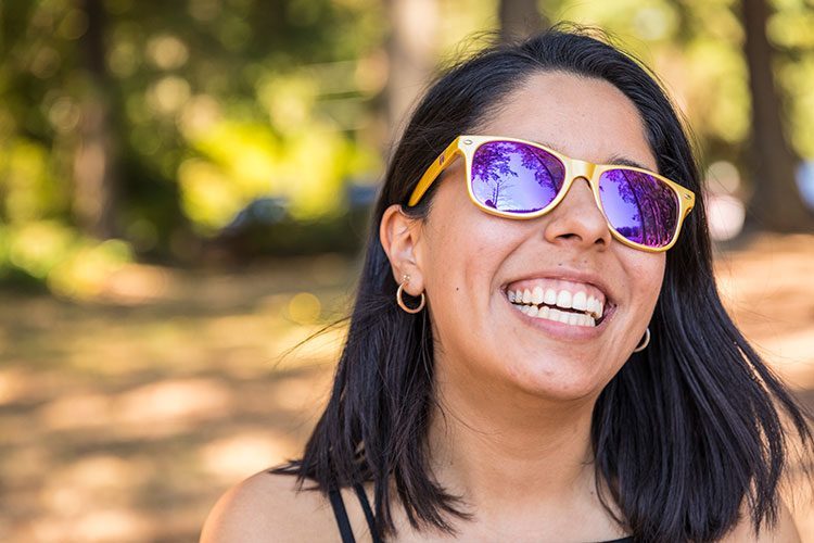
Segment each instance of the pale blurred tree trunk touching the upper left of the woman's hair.
[{"label": "pale blurred tree trunk touching the upper left of the woman's hair", "polygon": [[385,110],[393,144],[435,67],[438,8],[436,0],[387,0],[386,8],[391,35]]}]

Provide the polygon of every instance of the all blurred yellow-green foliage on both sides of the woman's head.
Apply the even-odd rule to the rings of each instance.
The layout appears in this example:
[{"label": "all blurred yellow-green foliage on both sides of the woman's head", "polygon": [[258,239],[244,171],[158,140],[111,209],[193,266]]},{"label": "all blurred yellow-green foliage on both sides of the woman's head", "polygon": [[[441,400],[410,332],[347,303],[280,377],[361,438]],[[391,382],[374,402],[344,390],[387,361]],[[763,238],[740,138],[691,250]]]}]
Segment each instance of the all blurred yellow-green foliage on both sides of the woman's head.
[{"label": "all blurred yellow-green foliage on both sides of the woman's head", "polygon": [[[256,199],[285,202],[281,224],[292,235],[275,247],[287,251],[318,245],[332,228],[346,228],[335,239],[358,229],[341,218],[346,187],[380,176],[386,74],[398,68],[385,53],[384,2],[98,0],[98,21],[87,11],[94,1],[0,3],[0,280],[80,295],[133,257],[200,256],[191,248]],[[814,157],[814,9],[811,0],[773,7],[790,139]],[[540,9],[549,21],[608,29],[662,76],[705,161],[742,164],[749,92],[737,1],[551,0]],[[437,37],[428,39],[440,63],[497,24],[496,1],[438,0],[437,10]],[[91,25],[103,36],[103,66],[82,47]],[[77,214],[90,103],[109,112],[119,241],[94,239]],[[316,235],[294,233],[319,224]]]}]

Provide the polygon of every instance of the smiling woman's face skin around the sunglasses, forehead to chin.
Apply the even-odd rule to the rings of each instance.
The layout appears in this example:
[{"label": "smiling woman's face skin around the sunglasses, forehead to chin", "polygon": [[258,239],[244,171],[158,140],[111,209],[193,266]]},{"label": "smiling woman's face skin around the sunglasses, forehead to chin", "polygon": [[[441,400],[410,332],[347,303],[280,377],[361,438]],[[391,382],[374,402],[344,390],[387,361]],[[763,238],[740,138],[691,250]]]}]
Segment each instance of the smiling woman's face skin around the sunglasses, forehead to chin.
[{"label": "smiling woman's face skin around the sunglasses, forehead to chin", "polygon": [[[626,160],[657,169],[635,105],[600,79],[537,74],[476,132],[536,141],[594,163]],[[613,239],[584,179],[542,217],[486,214],[469,200],[461,162],[437,188],[415,245],[436,364],[446,365],[442,375],[551,399],[598,394],[645,333],[664,253]],[[598,326],[531,317],[508,298],[535,288],[560,299],[584,292],[602,302],[605,317]]]}]

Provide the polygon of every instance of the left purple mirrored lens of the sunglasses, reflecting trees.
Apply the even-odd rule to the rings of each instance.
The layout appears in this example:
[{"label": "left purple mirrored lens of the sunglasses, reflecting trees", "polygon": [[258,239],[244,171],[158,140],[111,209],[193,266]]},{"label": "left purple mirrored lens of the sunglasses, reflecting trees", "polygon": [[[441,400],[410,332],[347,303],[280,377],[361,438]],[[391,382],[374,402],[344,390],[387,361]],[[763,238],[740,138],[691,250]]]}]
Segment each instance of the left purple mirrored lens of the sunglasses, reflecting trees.
[{"label": "left purple mirrored lens of the sunglasses, reflecting trees", "polygon": [[472,193],[498,211],[539,211],[554,201],[564,178],[559,159],[516,141],[489,141],[472,159]]}]

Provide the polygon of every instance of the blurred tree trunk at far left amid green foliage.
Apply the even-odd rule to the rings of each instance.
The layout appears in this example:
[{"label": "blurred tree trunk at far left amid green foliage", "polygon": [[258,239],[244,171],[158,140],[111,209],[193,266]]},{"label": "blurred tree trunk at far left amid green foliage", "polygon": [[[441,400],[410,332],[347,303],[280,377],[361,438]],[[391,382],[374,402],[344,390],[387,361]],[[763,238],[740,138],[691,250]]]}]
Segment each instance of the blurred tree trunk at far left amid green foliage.
[{"label": "blurred tree trunk at far left amid green foliage", "polygon": [[84,0],[88,27],[79,38],[88,86],[81,97],[79,146],[74,160],[74,213],[99,239],[116,236],[117,146],[111,119],[112,80],[105,66],[106,17],[101,0]]}]

